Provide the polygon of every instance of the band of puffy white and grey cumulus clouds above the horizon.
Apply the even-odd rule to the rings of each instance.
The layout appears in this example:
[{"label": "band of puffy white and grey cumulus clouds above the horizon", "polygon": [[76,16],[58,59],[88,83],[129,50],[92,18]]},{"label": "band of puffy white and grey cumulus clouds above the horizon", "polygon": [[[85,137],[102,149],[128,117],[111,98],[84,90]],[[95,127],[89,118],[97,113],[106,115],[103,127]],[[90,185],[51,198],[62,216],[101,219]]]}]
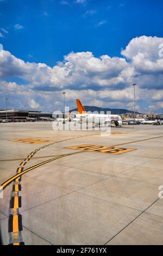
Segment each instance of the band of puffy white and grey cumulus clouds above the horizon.
[{"label": "band of puffy white and grey cumulus clouds above the horizon", "polygon": [[[62,90],[66,90],[70,105],[76,97],[81,97],[87,105],[96,102],[107,107],[110,102],[118,108],[131,108],[131,84],[137,83],[137,109],[139,105],[161,109],[163,58],[158,54],[160,44],[163,44],[163,38],[140,36],[122,50],[121,58],[107,54],[95,57],[89,51],[71,52],[53,67],[45,63],[24,62],[9,51],[3,51],[0,58],[0,93],[10,94],[13,102],[16,98],[20,99],[18,102],[22,105],[32,101],[31,108],[35,108],[37,102],[52,108],[54,102],[62,102]],[[6,82],[10,78],[12,82]],[[24,80],[26,85],[13,83],[16,78]]]}]

